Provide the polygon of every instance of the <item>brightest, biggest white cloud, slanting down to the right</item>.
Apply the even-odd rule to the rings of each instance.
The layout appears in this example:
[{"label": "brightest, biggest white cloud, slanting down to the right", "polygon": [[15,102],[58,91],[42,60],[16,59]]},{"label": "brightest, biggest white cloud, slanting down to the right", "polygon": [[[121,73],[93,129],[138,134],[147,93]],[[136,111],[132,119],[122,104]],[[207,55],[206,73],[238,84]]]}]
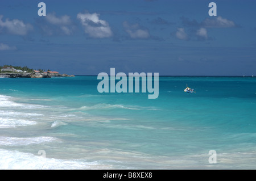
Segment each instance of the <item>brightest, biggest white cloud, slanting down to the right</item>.
[{"label": "brightest, biggest white cloud, slanting down to the right", "polygon": [[99,19],[100,14],[85,13],[77,14],[77,19],[80,20],[82,26],[84,26],[85,33],[88,33],[90,37],[104,38],[113,35],[112,30],[105,20]]}]

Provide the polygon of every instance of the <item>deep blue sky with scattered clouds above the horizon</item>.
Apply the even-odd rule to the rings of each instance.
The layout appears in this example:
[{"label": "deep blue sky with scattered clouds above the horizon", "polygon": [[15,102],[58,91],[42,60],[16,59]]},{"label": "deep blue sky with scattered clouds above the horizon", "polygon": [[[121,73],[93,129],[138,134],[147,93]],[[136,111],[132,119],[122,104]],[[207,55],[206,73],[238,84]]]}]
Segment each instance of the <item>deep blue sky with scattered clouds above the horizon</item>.
[{"label": "deep blue sky with scattered clouds above the horizon", "polygon": [[[46,16],[38,16],[38,3]],[[209,16],[210,2],[217,16]],[[256,1],[0,1],[0,65],[255,75]]]}]

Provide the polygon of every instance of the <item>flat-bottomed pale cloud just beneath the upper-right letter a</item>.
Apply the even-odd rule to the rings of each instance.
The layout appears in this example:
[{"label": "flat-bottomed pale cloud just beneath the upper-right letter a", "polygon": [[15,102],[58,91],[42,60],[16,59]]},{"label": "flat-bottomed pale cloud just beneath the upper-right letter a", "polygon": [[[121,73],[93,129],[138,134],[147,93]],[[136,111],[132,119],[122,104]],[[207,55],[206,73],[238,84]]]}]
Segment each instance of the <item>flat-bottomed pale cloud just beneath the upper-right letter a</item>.
[{"label": "flat-bottomed pale cloud just beneath the upper-right letter a", "polygon": [[236,24],[232,20],[228,20],[222,18],[221,16],[217,16],[215,19],[205,19],[201,25],[206,28],[232,28],[237,27]]}]

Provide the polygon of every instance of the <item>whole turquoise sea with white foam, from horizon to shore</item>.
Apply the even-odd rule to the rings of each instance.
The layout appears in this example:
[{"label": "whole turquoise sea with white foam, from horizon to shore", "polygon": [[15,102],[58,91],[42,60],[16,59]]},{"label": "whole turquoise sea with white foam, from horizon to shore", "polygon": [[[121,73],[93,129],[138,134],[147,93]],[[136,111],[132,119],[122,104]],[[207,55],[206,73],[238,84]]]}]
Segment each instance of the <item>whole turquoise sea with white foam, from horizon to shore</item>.
[{"label": "whole turquoise sea with white foam, from horizon to shore", "polygon": [[98,82],[0,78],[0,169],[256,169],[255,77],[159,77],[157,99]]}]

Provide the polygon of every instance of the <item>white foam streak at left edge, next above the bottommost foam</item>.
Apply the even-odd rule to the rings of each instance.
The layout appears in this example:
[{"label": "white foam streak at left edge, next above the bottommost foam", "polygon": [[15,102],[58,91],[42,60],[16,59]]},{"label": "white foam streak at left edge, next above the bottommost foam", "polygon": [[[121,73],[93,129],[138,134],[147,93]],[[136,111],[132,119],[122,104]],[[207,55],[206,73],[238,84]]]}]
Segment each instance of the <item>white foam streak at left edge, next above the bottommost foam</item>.
[{"label": "white foam streak at left edge, next above the bottommost foam", "polygon": [[18,145],[34,145],[45,142],[60,141],[55,137],[40,136],[40,137],[7,137],[0,136],[0,145],[18,146]]}]

